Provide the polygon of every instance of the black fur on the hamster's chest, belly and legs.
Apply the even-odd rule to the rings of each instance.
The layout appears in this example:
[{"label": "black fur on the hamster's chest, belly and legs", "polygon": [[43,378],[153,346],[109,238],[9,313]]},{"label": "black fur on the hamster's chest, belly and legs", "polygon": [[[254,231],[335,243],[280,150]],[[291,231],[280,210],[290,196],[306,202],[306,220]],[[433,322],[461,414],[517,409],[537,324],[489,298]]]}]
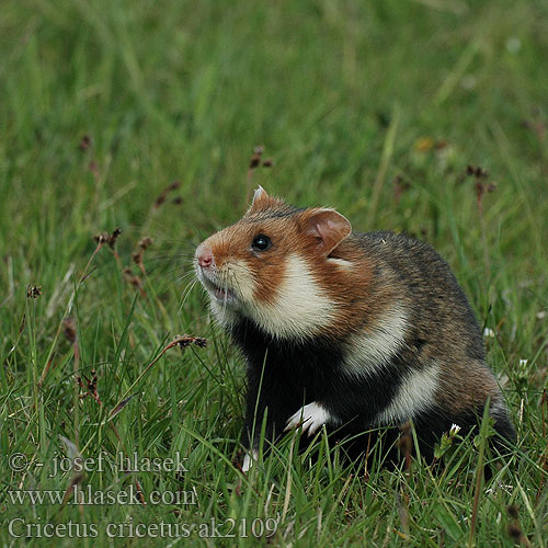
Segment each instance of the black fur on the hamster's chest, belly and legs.
[{"label": "black fur on the hamster's chest, belly and legs", "polygon": [[[379,435],[374,419],[390,403],[411,367],[420,364],[402,363],[396,356],[377,372],[349,376],[343,370],[343,345],[315,339],[300,344],[275,341],[252,321],[241,320],[231,332],[248,362],[248,393],[242,443],[258,448],[262,421],[266,411],[265,439],[274,442],[283,434],[287,420],[302,406],[317,401],[341,423],[327,426],[331,443],[342,443],[352,459],[373,447]],[[435,443],[452,424],[458,424],[466,435],[481,420],[483,410],[452,413],[433,409],[413,416],[421,454],[431,460]],[[504,421],[495,427],[503,437],[515,436]],[[398,459],[395,443],[400,425],[383,429],[384,447],[388,458]],[[372,432],[373,430],[373,432]],[[372,432],[369,434],[369,432]],[[349,442],[349,438],[353,438]],[[306,434],[301,444],[307,444]],[[389,448],[392,447],[390,450]]]}]

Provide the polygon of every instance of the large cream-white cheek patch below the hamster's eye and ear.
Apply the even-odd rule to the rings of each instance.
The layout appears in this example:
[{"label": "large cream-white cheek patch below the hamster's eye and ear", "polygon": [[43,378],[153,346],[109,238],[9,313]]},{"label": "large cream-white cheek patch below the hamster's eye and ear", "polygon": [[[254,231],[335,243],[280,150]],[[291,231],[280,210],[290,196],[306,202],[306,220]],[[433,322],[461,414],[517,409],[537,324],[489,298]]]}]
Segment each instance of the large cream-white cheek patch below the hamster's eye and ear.
[{"label": "large cream-white cheek patch below the hamster's eye and ear", "polygon": [[329,326],[335,304],[324,295],[306,261],[289,255],[283,276],[273,304],[255,301],[248,308],[253,320],[278,339],[306,339]]}]

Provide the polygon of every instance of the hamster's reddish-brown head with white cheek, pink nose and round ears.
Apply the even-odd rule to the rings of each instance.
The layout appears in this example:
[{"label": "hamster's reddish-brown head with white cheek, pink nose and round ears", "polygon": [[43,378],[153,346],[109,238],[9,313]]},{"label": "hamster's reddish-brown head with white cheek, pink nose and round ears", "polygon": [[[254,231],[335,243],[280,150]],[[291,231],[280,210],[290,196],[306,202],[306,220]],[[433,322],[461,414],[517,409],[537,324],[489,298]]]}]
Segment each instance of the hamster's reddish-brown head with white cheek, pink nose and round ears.
[{"label": "hamster's reddish-brown head with white cheek, pink nose and round ears", "polygon": [[272,338],[304,340],[344,322],[367,277],[351,235],[335,210],[297,208],[259,187],[238,222],[198,246],[194,265],[221,324],[247,318]]}]

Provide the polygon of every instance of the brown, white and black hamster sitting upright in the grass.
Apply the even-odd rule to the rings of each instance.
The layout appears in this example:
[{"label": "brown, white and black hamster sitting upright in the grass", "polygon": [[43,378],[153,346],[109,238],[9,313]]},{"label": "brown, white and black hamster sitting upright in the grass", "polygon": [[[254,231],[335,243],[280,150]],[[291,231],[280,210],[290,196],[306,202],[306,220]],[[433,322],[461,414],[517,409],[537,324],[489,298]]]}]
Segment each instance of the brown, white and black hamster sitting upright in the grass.
[{"label": "brown, white and black hamster sitting upright in the grass", "polygon": [[259,187],[235,225],[198,246],[213,313],[247,361],[248,470],[264,439],[326,426],[334,441],[412,420],[421,454],[486,403],[499,438],[516,434],[486,364],[480,329],[447,263],[393,232],[359,233],[331,208],[298,208]]}]

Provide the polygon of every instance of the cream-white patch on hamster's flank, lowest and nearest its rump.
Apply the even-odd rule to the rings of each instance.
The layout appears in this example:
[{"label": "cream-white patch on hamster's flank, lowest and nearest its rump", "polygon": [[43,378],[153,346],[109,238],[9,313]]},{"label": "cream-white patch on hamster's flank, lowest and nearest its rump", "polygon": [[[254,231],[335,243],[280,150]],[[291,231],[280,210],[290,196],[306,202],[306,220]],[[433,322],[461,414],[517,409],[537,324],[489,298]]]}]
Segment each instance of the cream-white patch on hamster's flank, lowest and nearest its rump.
[{"label": "cream-white patch on hamster's flank, lowest and nearest its rump", "polygon": [[435,362],[424,369],[412,370],[403,378],[392,401],[376,416],[375,424],[401,423],[434,407],[438,378],[439,366]]}]

